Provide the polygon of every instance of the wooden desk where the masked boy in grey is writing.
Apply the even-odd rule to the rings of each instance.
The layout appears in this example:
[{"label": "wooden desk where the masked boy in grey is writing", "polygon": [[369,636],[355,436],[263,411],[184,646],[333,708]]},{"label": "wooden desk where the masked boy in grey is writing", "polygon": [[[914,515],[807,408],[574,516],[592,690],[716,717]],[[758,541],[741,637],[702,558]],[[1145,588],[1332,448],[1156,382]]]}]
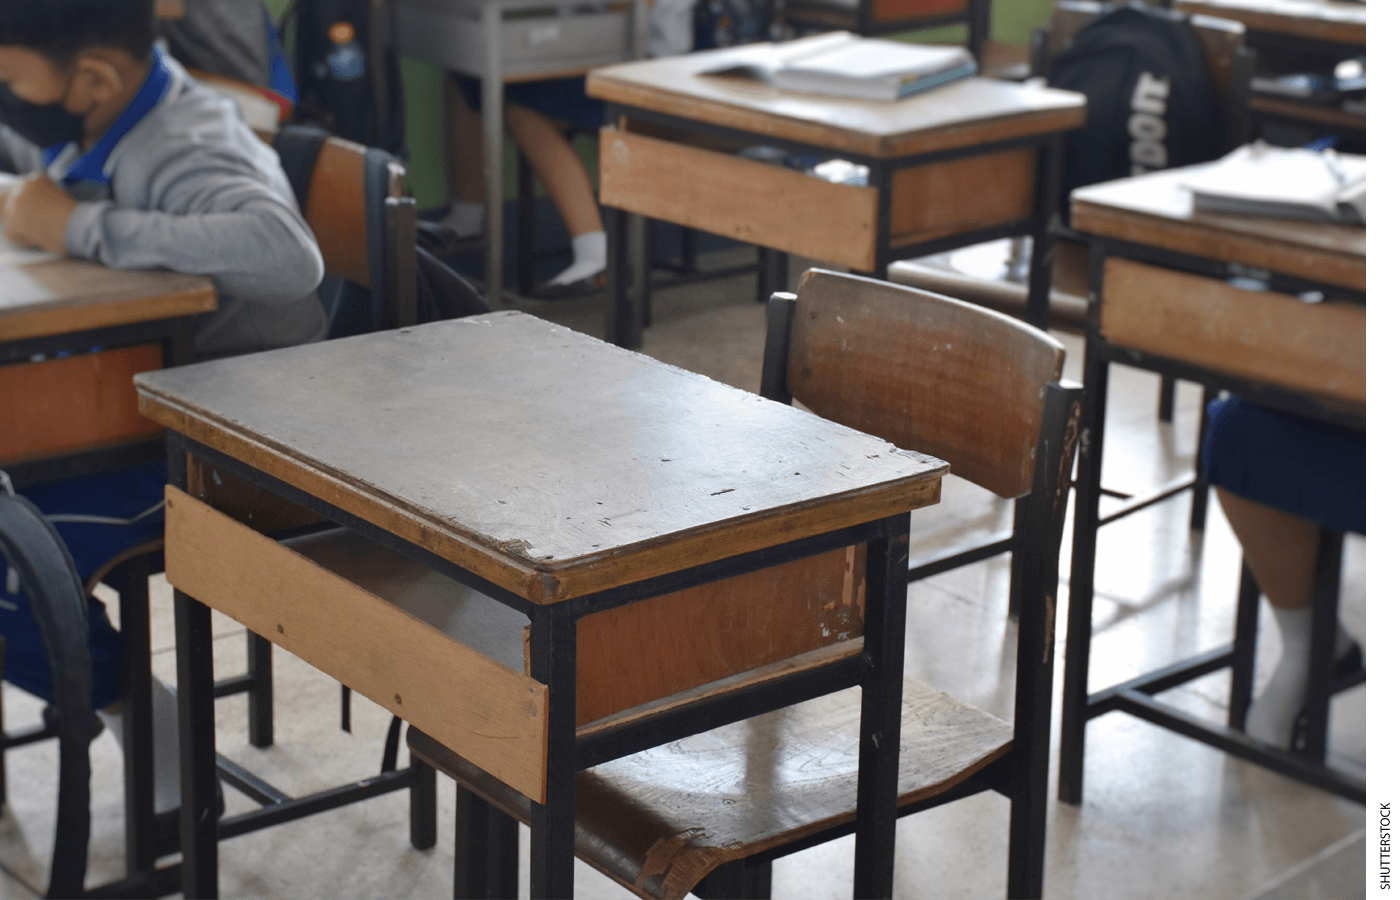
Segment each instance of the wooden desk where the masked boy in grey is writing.
[{"label": "wooden desk where the masked boy in grey is writing", "polygon": [[[162,431],[137,412],[132,377],[193,360],[193,316],[216,308],[213,283],[78,259],[22,262],[36,256],[7,249],[0,260],[0,469],[22,493],[27,484],[161,459]],[[127,666],[125,693],[133,700],[122,732],[126,868],[134,885],[155,866],[155,801],[150,612],[144,578],[132,578],[140,584],[122,591],[122,627],[129,658],[147,661]]]}]

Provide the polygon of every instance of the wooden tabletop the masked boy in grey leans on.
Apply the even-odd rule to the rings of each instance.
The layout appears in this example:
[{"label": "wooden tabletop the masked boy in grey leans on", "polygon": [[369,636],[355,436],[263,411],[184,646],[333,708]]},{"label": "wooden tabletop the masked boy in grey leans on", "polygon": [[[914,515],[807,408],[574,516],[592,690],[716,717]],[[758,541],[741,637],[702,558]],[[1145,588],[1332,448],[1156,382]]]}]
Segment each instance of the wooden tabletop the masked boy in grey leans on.
[{"label": "wooden tabletop the masked boy in grey leans on", "polygon": [[0,266],[0,342],[195,315],[217,302],[214,283],[203,276],[81,259]]}]

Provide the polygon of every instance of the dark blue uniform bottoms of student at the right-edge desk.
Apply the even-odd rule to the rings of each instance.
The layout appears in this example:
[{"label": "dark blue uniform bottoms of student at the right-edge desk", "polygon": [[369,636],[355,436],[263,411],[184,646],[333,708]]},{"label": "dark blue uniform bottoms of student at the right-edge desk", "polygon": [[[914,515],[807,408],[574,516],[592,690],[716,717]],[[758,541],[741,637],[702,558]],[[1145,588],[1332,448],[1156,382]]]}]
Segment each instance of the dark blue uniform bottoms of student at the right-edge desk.
[{"label": "dark blue uniform bottoms of student at the right-edge desk", "polygon": [[1232,494],[1366,533],[1366,435],[1239,398],[1212,400],[1205,477]]}]

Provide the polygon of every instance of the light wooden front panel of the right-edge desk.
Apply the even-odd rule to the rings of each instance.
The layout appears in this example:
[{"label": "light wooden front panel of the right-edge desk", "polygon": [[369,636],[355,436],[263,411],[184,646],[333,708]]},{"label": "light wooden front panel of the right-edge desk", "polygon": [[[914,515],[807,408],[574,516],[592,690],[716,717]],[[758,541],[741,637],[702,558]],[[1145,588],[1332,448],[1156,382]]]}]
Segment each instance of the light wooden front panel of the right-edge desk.
[{"label": "light wooden front panel of the right-edge desk", "polygon": [[1322,398],[1366,403],[1366,308],[1109,258],[1099,332],[1121,347]]}]

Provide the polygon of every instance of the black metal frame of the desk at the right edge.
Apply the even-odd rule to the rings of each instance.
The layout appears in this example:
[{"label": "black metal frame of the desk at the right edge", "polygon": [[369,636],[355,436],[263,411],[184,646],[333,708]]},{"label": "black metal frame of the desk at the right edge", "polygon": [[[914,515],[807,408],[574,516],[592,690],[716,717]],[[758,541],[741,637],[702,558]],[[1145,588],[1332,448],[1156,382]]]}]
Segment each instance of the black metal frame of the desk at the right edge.
[{"label": "black metal frame of the desk at the right edge", "polygon": [[[1341,536],[1336,532],[1327,532],[1326,529],[1323,532],[1323,549],[1316,581],[1317,595],[1313,602],[1312,652],[1313,659],[1323,659],[1326,662],[1310,666],[1309,697],[1305,705],[1306,738],[1301,750],[1294,753],[1280,750],[1253,740],[1243,733],[1245,712],[1253,690],[1254,635],[1259,617],[1259,588],[1245,565],[1240,567],[1236,640],[1233,642],[1148,672],[1093,694],[1088,691],[1098,529],[1152,502],[1166,500],[1166,497],[1177,493],[1177,490],[1193,487],[1193,484],[1184,484],[1176,490],[1168,488],[1144,501],[1131,504],[1128,508],[1117,511],[1110,516],[1099,516],[1099,497],[1107,493],[1102,490],[1100,479],[1103,473],[1103,420],[1107,399],[1109,363],[1121,363],[1161,372],[1165,377],[1201,384],[1207,391],[1204,400],[1208,400],[1214,392],[1224,389],[1252,403],[1270,406],[1287,413],[1362,431],[1366,427],[1364,413],[1357,414],[1340,410],[1295,391],[1225,375],[1200,365],[1110,343],[1099,333],[1105,260],[1109,256],[1114,256],[1214,279],[1246,276],[1267,281],[1277,291],[1291,294],[1323,291],[1330,300],[1348,300],[1361,304],[1365,304],[1365,294],[1331,284],[1250,269],[1236,263],[1215,262],[1098,235],[1089,237],[1089,321],[1085,328],[1084,358],[1085,405],[1084,428],[1079,433],[1079,473],[1075,481],[1074,549],[1070,568],[1068,640],[1065,644],[1064,711],[1060,736],[1060,799],[1075,805],[1082,799],[1084,743],[1085,728],[1089,719],[1105,712],[1121,711],[1187,738],[1201,740],[1250,763],[1365,803],[1366,788],[1362,780],[1329,768],[1324,764],[1327,707],[1331,694],[1345,690],[1365,677],[1364,673],[1359,677],[1341,680],[1333,677],[1331,648],[1337,627],[1337,574],[1341,565]],[[1204,427],[1204,409],[1201,416]],[[1197,459],[1197,473],[1193,481],[1198,500],[1204,500],[1207,486],[1200,466],[1201,460]],[[1197,507],[1200,515],[1204,518],[1204,502],[1193,504],[1193,518],[1197,515]],[[1193,523],[1193,528],[1198,526]],[[1247,640],[1242,640],[1246,635]],[[1232,669],[1228,728],[1154,698],[1156,693],[1186,684],[1225,668]]]}]

